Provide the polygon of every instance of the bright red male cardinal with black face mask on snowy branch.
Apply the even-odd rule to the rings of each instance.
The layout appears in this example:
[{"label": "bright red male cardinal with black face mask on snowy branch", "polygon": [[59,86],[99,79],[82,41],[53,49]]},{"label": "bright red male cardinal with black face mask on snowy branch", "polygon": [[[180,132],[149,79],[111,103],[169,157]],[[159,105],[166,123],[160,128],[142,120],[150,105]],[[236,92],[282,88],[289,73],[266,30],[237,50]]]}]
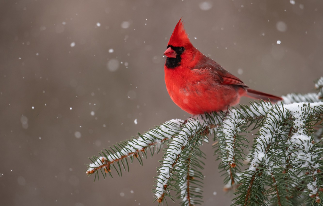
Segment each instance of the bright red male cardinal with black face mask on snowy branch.
[{"label": "bright red male cardinal with black face mask on snowy branch", "polygon": [[276,103],[282,98],[249,89],[214,60],[197,50],[188,38],[183,23],[175,26],[166,55],[165,83],[173,102],[190,114],[227,110],[242,96]]}]

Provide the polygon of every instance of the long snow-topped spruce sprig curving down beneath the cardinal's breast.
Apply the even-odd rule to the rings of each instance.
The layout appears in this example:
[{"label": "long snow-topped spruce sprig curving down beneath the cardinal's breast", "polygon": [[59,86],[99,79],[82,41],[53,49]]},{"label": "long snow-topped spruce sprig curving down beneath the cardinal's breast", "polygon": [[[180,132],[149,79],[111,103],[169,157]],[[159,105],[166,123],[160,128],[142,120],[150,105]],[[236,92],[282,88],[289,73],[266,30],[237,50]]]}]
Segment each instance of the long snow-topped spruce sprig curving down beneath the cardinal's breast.
[{"label": "long snow-topped spruce sprig curving down beneath the cardinal's breast", "polygon": [[[185,178],[178,175],[182,174],[182,172],[181,170],[177,170],[177,168],[185,169],[187,171],[187,167],[182,167],[182,165],[187,163],[191,166],[193,165],[197,168],[201,168],[198,157],[201,157],[202,153],[198,147],[195,149],[194,146],[201,145],[202,138],[206,138],[211,132],[210,129],[220,125],[223,118],[221,115],[223,115],[223,113],[193,116],[184,123],[181,131],[172,138],[168,149],[165,151],[164,160],[161,162],[162,166],[158,169],[159,176],[157,177],[156,189],[154,190],[158,202],[162,202],[164,196],[171,197],[169,190],[173,188],[176,190],[176,188],[178,188],[178,184],[176,184],[178,179],[181,179],[183,182],[185,181]],[[194,151],[199,151],[199,153],[194,153]],[[190,154],[191,156],[187,156],[187,154]],[[186,161],[188,158],[190,158],[190,162]],[[196,172],[197,171],[195,170],[195,173]],[[202,173],[200,176],[203,177]],[[180,186],[183,184],[184,183],[180,183]],[[182,193],[180,189],[177,190]],[[190,199],[190,201],[192,202],[192,199]],[[185,205],[185,196],[182,196],[182,202]],[[196,200],[194,203],[196,203]]]}]

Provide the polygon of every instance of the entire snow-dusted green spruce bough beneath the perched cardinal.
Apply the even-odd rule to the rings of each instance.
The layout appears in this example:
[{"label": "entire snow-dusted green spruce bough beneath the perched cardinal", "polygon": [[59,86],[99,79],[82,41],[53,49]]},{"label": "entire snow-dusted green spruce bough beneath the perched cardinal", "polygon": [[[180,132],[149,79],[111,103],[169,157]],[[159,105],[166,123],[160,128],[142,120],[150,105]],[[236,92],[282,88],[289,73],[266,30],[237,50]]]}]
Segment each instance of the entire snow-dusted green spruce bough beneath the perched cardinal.
[{"label": "entire snow-dusted green spruce bough beneath the perched cardinal", "polygon": [[[227,113],[212,112],[187,120],[172,119],[121,141],[89,158],[86,173],[99,179],[142,165],[147,153],[164,155],[157,168],[154,201],[175,196],[182,206],[202,203],[200,149],[213,136],[225,188],[235,191],[232,205],[323,205],[323,77],[318,93],[288,94],[281,103],[251,102]],[[246,136],[257,129],[253,144]],[[246,167],[248,165],[248,167]]]}]

